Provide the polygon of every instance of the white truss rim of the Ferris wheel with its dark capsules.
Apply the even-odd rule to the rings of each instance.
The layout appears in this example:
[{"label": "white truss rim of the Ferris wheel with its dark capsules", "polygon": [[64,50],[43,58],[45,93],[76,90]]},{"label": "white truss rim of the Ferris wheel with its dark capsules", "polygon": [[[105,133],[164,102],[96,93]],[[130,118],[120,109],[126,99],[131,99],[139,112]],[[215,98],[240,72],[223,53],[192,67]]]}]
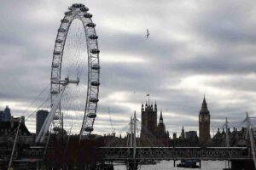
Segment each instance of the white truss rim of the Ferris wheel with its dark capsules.
[{"label": "white truss rim of the Ferris wheel with its dark capsules", "polygon": [[93,131],[93,125],[96,118],[97,103],[99,101],[98,94],[100,86],[100,50],[98,48],[97,42],[98,37],[95,30],[96,25],[91,20],[92,14],[87,13],[88,10],[89,8],[86,8],[83,4],[75,3],[72,7],[69,8],[69,11],[65,13],[64,18],[61,20],[61,26],[59,27],[57,36],[55,38],[55,48],[50,77],[50,99],[52,106],[56,95],[60,93],[61,90],[61,85],[56,85],[55,80],[61,79],[62,57],[67,40],[67,33],[69,31],[69,27],[72,25],[73,20],[80,20],[84,27],[88,56],[87,95],[84,108],[83,123],[79,133],[80,139],[82,136],[88,135]]}]

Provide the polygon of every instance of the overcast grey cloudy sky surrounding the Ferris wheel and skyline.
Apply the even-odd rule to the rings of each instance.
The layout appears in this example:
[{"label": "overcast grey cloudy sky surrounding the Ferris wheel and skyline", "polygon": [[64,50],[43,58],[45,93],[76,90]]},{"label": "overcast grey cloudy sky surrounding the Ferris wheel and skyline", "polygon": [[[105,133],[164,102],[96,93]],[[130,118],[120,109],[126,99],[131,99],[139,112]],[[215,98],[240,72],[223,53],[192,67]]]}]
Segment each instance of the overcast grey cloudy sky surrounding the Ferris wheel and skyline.
[{"label": "overcast grey cloudy sky surrounding the Ferris wheel and skyline", "polygon": [[[3,0],[0,5],[0,109],[26,108],[47,87],[57,29],[75,1]],[[227,116],[256,116],[256,2],[226,0],[88,0],[101,50],[96,133],[119,133],[142,102],[157,102],[166,129],[198,130],[204,94],[211,131]],[[150,36],[146,38],[146,29]],[[44,108],[49,105],[44,105]],[[26,122],[35,131],[32,116]]]}]

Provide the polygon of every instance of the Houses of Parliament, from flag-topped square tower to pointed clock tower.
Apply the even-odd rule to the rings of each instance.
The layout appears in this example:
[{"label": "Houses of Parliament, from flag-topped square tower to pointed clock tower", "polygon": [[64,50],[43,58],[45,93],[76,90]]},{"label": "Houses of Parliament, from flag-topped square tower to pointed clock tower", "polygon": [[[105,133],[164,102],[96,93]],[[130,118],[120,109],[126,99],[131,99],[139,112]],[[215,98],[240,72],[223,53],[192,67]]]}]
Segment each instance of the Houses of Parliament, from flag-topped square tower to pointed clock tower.
[{"label": "Houses of Parliament, from flag-topped square tower to pointed clock tower", "polygon": [[[157,104],[142,104],[141,108],[141,138],[157,138],[157,139],[169,139],[169,132],[166,131],[166,126],[163,119],[163,113],[160,111],[160,119],[157,122]],[[201,104],[201,111],[199,111],[199,138],[196,131],[184,132],[182,129],[180,139],[185,138],[198,138],[200,143],[208,143],[211,140],[210,136],[210,111],[207,108],[207,100],[204,97]],[[173,139],[176,138],[176,134],[173,134]]]}]

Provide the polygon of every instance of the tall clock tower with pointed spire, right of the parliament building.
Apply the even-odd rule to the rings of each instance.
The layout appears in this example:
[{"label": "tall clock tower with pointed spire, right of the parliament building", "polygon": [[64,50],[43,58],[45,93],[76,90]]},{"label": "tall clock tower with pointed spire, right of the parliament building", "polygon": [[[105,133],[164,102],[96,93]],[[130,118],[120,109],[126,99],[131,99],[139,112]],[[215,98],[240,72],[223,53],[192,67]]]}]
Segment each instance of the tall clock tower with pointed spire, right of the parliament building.
[{"label": "tall clock tower with pointed spire, right of the parliament building", "polygon": [[202,143],[207,143],[210,140],[210,111],[207,108],[207,101],[204,97],[199,113],[199,140]]}]

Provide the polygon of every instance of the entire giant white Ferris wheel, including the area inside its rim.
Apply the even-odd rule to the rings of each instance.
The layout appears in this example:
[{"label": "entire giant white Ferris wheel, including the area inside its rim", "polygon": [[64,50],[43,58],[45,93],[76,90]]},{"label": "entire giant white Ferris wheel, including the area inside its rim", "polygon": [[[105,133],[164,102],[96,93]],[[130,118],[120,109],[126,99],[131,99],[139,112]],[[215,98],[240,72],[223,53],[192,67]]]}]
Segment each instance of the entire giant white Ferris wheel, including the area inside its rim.
[{"label": "entire giant white Ferris wheel, including the area inside its rim", "polygon": [[75,3],[68,9],[55,39],[50,77],[50,105],[55,111],[45,128],[51,124],[55,133],[67,133],[66,127],[76,126],[81,139],[94,130],[100,50],[89,8]]}]

